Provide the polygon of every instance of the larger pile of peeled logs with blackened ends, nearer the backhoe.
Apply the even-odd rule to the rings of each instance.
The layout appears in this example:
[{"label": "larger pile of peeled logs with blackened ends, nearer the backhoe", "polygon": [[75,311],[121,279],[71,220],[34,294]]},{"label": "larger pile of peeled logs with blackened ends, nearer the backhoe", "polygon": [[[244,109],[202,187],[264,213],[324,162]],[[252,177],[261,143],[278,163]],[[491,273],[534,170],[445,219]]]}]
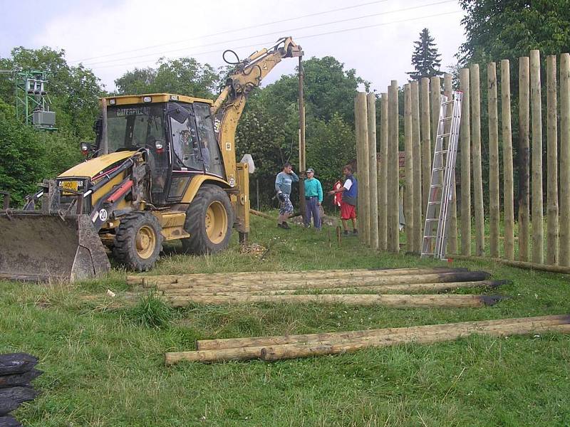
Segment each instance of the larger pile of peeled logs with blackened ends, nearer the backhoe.
[{"label": "larger pile of peeled logs with blackened ends, nearer the backhoe", "polygon": [[[156,287],[174,307],[190,303],[342,303],[390,307],[481,307],[493,295],[410,295],[457,288],[496,288],[507,280],[465,268],[393,268],[297,272],[129,276],[128,283]],[[314,292],[318,295],[314,295]],[[304,293],[303,293],[304,292]],[[313,292],[310,295],[308,292]],[[333,293],[326,293],[333,292]],[[303,295],[299,295],[303,293]],[[400,295],[390,295],[390,294]],[[405,295],[401,295],[405,294]]]}]

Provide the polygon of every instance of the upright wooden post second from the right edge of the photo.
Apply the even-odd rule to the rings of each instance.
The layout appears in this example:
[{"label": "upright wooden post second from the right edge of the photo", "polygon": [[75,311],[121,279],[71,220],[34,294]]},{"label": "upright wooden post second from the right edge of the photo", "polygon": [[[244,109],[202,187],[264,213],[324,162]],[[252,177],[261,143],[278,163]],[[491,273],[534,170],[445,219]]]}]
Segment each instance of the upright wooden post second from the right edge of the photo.
[{"label": "upright wooden post second from the right edge of the photo", "polygon": [[556,56],[546,57],[546,264],[558,264],[558,125]]}]

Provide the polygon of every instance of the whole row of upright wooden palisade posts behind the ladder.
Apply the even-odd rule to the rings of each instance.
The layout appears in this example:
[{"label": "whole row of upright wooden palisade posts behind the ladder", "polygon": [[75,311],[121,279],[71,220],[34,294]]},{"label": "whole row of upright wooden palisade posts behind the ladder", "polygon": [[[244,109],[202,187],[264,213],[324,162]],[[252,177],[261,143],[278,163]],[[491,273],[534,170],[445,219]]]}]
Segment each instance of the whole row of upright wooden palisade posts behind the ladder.
[{"label": "whole row of upright wooden palisade posts behind the ladder", "polygon": [[[560,56],[557,103],[556,56],[546,57],[546,242],[543,206],[543,135],[539,51],[519,58],[519,216],[518,260],[547,265],[570,265],[570,54]],[[463,92],[460,124],[460,246],[457,233],[455,191],[450,204],[447,254],[515,259],[512,105],[509,60],[487,65],[488,137],[481,135],[480,66],[459,73]],[[500,83],[500,84],[499,84]],[[502,127],[499,139],[498,92],[500,86]],[[432,142],[437,134],[441,104],[441,78],[423,78],[404,85],[404,210],[406,251],[420,253],[423,221],[430,188]],[[443,93],[452,96],[452,76],[445,74]],[[380,95],[377,157],[376,96],[358,93],[355,99],[356,151],[359,179],[358,206],[361,241],[380,251],[400,251],[398,164],[398,82],[392,80]],[[531,117],[532,120],[529,120]],[[557,129],[558,122],[560,129]],[[558,141],[560,135],[560,147]],[[532,145],[530,139],[532,138]],[[502,142],[503,199],[499,201],[499,142]],[[489,152],[489,200],[483,199],[482,144]],[[531,148],[532,147],[532,148]],[[558,152],[560,151],[560,156]],[[532,165],[530,164],[532,154]],[[531,179],[532,176],[532,179]],[[454,177],[455,179],[455,177]],[[532,196],[532,198],[531,198]],[[532,200],[532,206],[530,201]],[[484,204],[489,212],[489,249],[485,248]],[[502,209],[500,208],[502,204]],[[502,215],[501,215],[502,210]],[[472,229],[472,213],[475,228]],[[532,213],[532,215],[531,215]],[[500,228],[504,222],[504,251],[499,253]],[[532,230],[532,233],[531,233]],[[546,258],[544,244],[546,243]],[[529,248],[532,248],[529,251]],[[459,249],[459,251],[458,251]]]}]

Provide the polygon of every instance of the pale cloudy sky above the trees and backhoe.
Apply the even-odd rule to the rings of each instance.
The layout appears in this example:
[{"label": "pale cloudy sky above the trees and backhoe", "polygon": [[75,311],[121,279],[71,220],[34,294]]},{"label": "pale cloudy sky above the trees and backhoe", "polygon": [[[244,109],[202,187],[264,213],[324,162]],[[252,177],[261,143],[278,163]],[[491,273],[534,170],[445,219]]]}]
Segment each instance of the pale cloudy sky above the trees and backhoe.
[{"label": "pale cloudy sky above the trees and backhoe", "polygon": [[[462,16],[457,0],[0,0],[0,56],[15,46],[64,49],[68,63],[83,63],[113,90],[123,73],[160,57],[219,67],[225,49],[245,57],[292,36],[306,58],[334,56],[385,92],[390,80],[407,81],[422,28],[435,38],[442,70],[455,64]],[[265,83],[295,65],[283,60]]]}]

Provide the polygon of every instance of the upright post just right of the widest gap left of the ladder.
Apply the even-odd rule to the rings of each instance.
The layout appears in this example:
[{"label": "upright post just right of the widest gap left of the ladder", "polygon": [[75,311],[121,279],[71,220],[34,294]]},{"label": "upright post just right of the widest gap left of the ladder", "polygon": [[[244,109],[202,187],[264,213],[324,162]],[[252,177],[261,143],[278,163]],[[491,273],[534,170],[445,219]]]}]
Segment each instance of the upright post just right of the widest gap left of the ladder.
[{"label": "upright post just right of the widest gap left of the ladder", "polygon": [[405,245],[408,252],[414,251],[414,164],[412,143],[412,88],[404,85],[404,152],[405,152]]}]

